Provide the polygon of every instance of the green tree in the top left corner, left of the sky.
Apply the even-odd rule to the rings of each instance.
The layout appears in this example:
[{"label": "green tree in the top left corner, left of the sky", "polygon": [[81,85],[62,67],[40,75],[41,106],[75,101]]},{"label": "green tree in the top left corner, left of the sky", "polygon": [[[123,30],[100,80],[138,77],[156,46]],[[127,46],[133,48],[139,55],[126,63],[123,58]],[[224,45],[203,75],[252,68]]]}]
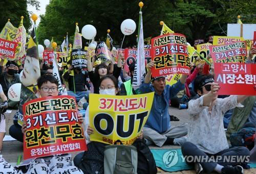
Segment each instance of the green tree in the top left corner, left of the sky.
[{"label": "green tree in the top left corner, left of the sky", "polygon": [[5,23],[10,18],[14,27],[18,28],[20,17],[24,16],[23,24],[28,29],[32,26],[30,21],[30,13],[27,5],[30,4],[38,9],[39,2],[37,0],[2,0],[0,1],[0,29],[2,30]]}]

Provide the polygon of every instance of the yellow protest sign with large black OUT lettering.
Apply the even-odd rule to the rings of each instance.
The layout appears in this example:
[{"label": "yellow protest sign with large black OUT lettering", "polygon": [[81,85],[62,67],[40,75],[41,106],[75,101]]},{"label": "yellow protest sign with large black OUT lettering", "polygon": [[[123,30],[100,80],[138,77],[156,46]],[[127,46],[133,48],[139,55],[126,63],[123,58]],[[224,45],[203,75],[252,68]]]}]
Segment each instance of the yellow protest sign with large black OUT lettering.
[{"label": "yellow protest sign with large black OUT lettering", "polygon": [[[131,145],[150,114],[154,92],[130,96],[90,94],[91,141]],[[92,106],[92,107],[91,107]]]}]

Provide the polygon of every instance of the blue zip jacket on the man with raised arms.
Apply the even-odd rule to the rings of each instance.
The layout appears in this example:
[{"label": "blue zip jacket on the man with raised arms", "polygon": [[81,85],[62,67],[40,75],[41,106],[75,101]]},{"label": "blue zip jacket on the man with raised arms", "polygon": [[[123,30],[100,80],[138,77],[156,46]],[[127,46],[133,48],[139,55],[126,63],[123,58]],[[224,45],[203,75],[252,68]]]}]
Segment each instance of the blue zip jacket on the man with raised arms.
[{"label": "blue zip jacket on the man with raised arms", "polygon": [[[168,113],[169,100],[184,88],[185,85],[178,81],[172,86],[166,85],[161,95],[155,93],[145,127],[151,128],[160,134],[167,131],[170,128],[170,117]],[[150,83],[141,84],[139,90],[141,93],[155,91],[154,86]]]}]

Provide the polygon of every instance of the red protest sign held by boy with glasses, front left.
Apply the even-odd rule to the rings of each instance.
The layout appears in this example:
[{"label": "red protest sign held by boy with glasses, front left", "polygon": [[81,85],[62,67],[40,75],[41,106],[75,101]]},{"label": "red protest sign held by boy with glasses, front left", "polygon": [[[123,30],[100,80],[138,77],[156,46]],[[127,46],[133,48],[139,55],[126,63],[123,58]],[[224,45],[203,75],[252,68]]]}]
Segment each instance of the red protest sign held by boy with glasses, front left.
[{"label": "red protest sign held by boy with glasses, front left", "polygon": [[23,114],[25,160],[87,150],[74,97],[37,98],[23,105]]}]

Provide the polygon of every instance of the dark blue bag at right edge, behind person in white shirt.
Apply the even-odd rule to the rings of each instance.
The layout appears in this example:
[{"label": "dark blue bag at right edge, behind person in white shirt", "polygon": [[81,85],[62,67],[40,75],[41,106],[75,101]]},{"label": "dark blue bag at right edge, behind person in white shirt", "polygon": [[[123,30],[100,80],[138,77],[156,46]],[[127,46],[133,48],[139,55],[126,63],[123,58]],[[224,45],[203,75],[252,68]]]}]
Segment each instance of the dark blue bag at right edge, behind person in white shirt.
[{"label": "dark blue bag at right edge, behind person in white shirt", "polygon": [[246,146],[251,150],[254,146],[255,132],[256,128],[243,128],[230,135],[230,143],[232,146]]}]

